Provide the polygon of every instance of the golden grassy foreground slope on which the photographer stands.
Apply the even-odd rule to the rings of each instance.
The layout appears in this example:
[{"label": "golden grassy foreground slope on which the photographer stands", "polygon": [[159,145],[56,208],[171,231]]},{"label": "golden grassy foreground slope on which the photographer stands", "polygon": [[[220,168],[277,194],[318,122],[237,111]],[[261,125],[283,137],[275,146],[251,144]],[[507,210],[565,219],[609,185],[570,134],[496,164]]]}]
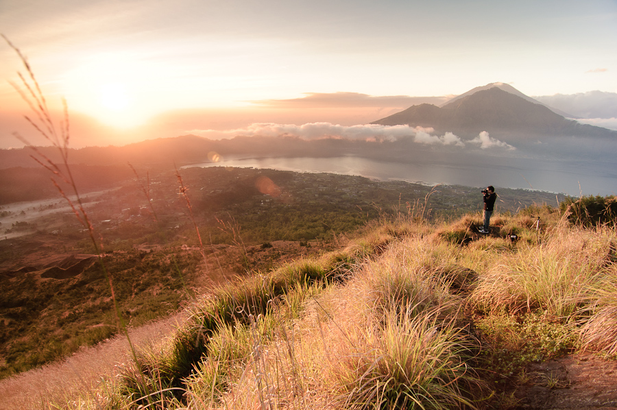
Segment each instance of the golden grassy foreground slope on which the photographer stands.
[{"label": "golden grassy foreground slope on which the photographer stands", "polygon": [[165,346],[96,393],[82,380],[60,397],[76,389],[81,409],[615,407],[614,227],[574,225],[564,204],[495,215],[485,236],[477,213],[428,224],[425,210],[213,287]]}]

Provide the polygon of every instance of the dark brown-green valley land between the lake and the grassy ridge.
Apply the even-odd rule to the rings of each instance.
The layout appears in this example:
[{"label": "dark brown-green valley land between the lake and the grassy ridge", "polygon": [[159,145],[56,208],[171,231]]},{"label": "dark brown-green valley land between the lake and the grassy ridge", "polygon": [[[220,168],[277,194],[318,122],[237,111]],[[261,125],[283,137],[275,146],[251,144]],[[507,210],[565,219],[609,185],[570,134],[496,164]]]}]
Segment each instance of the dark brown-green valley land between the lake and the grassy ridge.
[{"label": "dark brown-green valley land between the lake and the grassy ridge", "polygon": [[[145,176],[83,199],[132,326],[175,311],[190,289],[331,250],[339,235],[424,202],[431,192],[400,181],[223,167],[186,169],[182,179],[194,221],[207,238],[208,263],[199,255],[173,173],[149,177],[152,207],[139,185]],[[564,200],[514,189],[499,189],[499,195],[503,212]],[[438,186],[426,217],[457,217],[478,209],[479,201],[477,189]],[[64,200],[4,206],[0,228],[0,378],[117,333],[104,272]]]}]

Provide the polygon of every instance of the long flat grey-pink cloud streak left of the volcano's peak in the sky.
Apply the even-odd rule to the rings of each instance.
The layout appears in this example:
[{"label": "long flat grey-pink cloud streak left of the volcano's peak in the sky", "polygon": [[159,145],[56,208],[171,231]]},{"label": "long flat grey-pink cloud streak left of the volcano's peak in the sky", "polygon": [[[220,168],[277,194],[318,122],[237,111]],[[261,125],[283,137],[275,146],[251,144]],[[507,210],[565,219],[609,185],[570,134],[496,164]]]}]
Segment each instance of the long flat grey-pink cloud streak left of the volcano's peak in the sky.
[{"label": "long flat grey-pink cloud streak left of the volcano's peak in the sky", "polygon": [[292,99],[261,99],[250,101],[270,108],[409,108],[418,104],[439,105],[448,97],[409,97],[408,95],[372,96],[361,93],[304,93],[305,97]]}]

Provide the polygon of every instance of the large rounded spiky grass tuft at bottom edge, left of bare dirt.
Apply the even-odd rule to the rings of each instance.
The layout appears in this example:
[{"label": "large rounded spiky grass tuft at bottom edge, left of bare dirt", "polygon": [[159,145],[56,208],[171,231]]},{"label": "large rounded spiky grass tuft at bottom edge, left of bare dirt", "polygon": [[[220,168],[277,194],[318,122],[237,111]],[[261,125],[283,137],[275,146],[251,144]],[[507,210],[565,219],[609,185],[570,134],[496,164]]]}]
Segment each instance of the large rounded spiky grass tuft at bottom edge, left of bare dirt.
[{"label": "large rounded spiky grass tuft at bottom edge, left of bare dirt", "polygon": [[[440,309],[389,314],[383,329],[361,334],[333,372],[343,408],[474,408],[483,390],[468,360],[474,341]],[[474,397],[475,396],[475,397]]]}]

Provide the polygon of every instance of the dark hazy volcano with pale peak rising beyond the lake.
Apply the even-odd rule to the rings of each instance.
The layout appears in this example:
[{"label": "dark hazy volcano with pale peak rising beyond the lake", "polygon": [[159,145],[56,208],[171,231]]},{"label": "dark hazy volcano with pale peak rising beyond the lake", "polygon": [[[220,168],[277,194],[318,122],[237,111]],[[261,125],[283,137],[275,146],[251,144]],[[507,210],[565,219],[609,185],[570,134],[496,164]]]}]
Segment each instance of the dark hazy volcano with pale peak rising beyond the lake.
[{"label": "dark hazy volcano with pale peak rising beyond the lake", "polygon": [[[441,107],[411,106],[374,121],[381,125],[410,125],[473,136],[487,131],[505,139],[538,136],[617,138],[617,132],[566,119],[550,108],[503,83],[489,84],[451,99]],[[535,102],[534,102],[535,101]]]}]

